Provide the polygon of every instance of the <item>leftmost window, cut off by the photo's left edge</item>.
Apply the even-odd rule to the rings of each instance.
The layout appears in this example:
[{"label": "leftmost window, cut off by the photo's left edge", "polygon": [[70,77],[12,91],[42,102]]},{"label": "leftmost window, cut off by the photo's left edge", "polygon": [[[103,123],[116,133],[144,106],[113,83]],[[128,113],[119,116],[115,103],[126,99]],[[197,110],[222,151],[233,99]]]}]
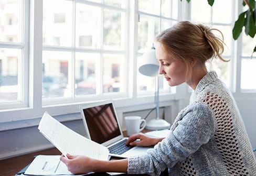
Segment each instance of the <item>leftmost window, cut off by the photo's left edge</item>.
[{"label": "leftmost window, cut off by the photo's left edge", "polygon": [[27,106],[28,36],[25,28],[27,1],[0,2],[0,106]]}]

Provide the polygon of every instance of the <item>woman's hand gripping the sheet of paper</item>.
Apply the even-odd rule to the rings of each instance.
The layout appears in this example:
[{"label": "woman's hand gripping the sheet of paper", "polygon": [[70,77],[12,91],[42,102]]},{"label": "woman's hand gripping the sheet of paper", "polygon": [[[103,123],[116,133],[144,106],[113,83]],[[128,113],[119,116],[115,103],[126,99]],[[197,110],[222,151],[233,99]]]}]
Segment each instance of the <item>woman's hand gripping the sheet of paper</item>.
[{"label": "woman's hand gripping the sheet of paper", "polygon": [[72,174],[84,174],[93,170],[93,161],[86,156],[72,156],[67,154],[67,158],[61,155],[60,160],[66,164],[68,171]]}]

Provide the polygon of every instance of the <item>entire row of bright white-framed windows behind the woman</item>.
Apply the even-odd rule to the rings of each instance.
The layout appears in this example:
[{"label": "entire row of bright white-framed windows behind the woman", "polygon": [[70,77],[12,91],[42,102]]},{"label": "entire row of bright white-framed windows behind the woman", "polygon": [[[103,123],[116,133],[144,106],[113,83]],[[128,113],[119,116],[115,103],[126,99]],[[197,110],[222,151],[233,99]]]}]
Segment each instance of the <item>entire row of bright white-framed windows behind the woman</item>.
[{"label": "entire row of bright white-framed windows behind the woman", "polygon": [[[29,2],[35,4],[31,9]],[[214,7],[205,0],[1,1],[0,122],[35,118],[44,111],[69,114],[78,112],[80,104],[109,98],[120,107],[152,107],[155,79],[137,71],[142,54],[159,32],[187,19],[223,32],[223,57],[231,62],[216,60],[209,68],[233,91],[255,92],[255,40],[232,38],[239,8],[231,0],[215,1]],[[159,82],[161,103],[187,96],[186,87],[176,94],[163,77]]]}]

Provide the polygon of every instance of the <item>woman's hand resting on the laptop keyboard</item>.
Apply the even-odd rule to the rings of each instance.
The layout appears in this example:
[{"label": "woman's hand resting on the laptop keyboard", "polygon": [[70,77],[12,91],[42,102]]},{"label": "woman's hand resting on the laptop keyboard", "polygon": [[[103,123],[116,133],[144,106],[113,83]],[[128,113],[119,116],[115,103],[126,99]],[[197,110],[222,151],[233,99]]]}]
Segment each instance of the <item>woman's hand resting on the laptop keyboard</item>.
[{"label": "woman's hand resting on the laptop keyboard", "polygon": [[[140,139],[140,140],[137,140]],[[162,141],[164,138],[154,138],[154,137],[149,137],[146,136],[143,133],[137,133],[132,136],[130,136],[127,141],[126,145],[127,146],[154,146],[156,145],[159,141]]]}]

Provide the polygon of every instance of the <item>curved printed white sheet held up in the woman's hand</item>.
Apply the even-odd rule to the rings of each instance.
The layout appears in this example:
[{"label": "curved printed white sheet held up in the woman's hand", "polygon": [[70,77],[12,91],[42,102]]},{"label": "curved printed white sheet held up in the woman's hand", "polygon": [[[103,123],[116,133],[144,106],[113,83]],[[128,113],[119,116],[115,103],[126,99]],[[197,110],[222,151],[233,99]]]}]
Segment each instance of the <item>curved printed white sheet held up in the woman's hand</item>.
[{"label": "curved printed white sheet held up in the woman's hand", "polygon": [[108,160],[108,148],[74,132],[47,112],[42,116],[38,129],[65,156],[69,153]]}]

